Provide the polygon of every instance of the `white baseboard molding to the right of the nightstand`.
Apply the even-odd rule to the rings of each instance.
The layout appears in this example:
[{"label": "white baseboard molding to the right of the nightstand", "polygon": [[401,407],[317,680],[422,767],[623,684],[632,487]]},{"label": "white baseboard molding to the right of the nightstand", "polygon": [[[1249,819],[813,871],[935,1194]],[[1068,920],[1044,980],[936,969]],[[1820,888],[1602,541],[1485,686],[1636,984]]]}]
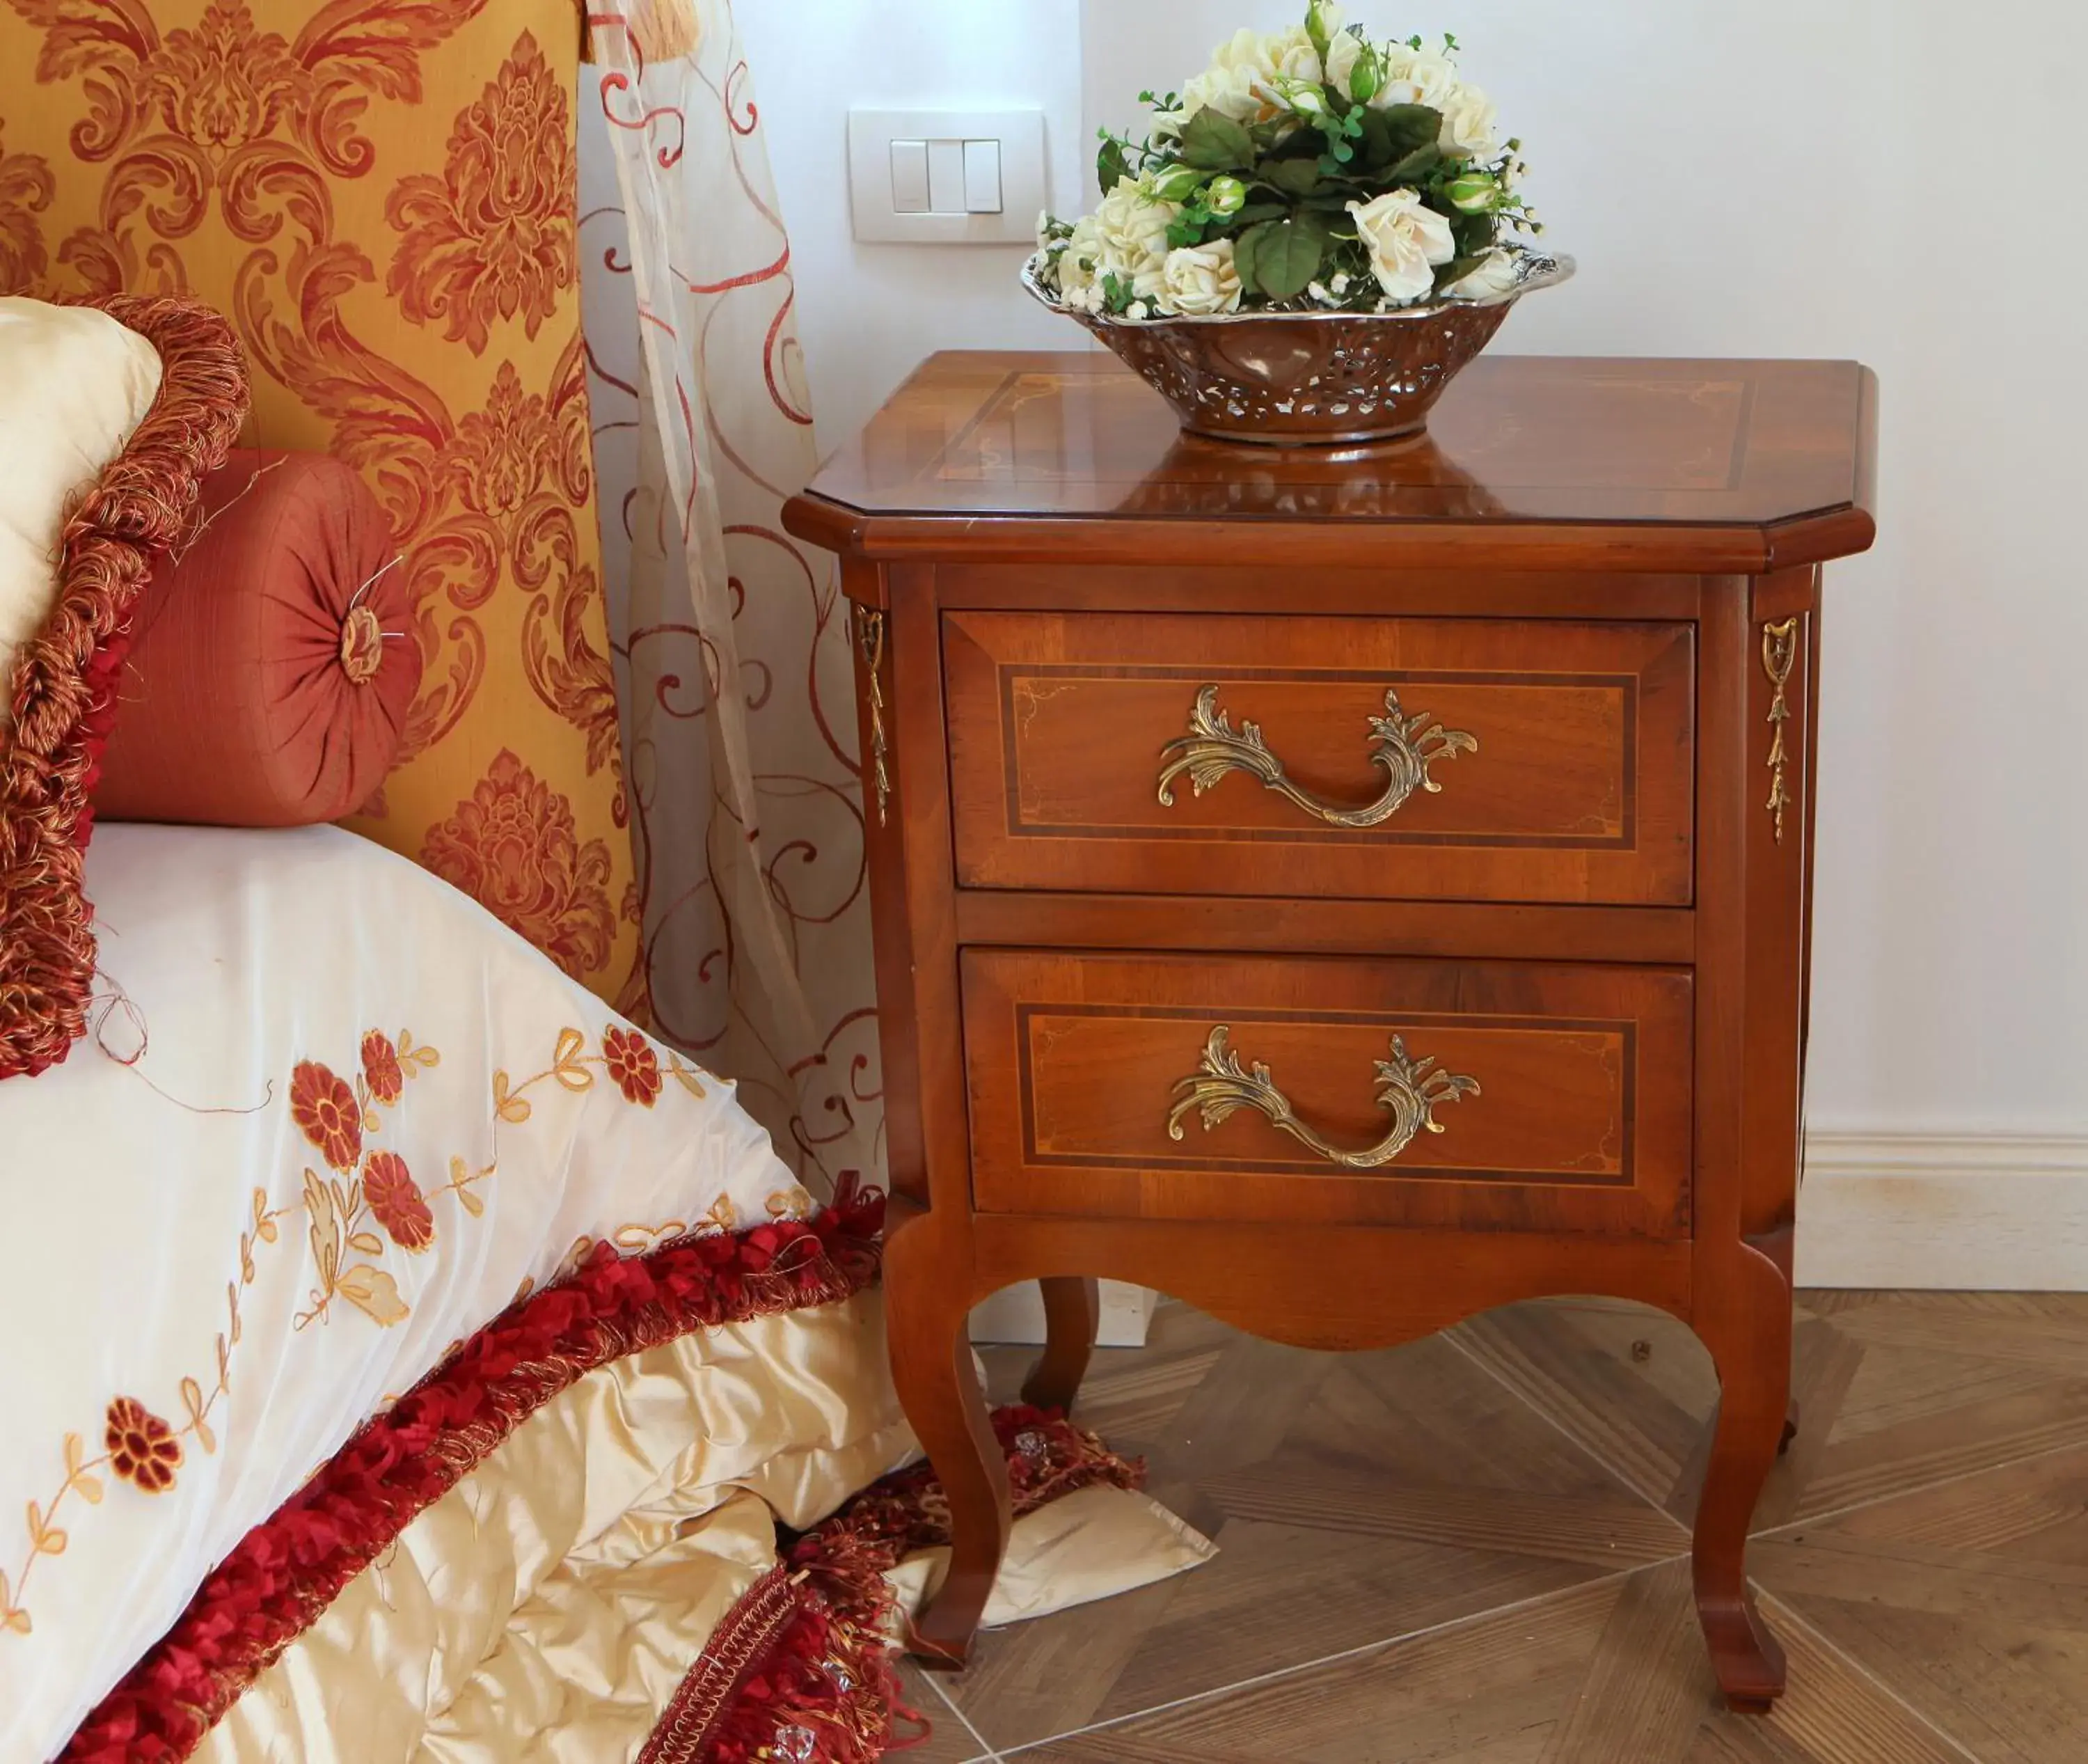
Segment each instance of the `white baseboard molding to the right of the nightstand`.
[{"label": "white baseboard molding to the right of the nightstand", "polygon": [[1812,1134],[1798,1284],[2088,1292],[2088,1136]]}]

